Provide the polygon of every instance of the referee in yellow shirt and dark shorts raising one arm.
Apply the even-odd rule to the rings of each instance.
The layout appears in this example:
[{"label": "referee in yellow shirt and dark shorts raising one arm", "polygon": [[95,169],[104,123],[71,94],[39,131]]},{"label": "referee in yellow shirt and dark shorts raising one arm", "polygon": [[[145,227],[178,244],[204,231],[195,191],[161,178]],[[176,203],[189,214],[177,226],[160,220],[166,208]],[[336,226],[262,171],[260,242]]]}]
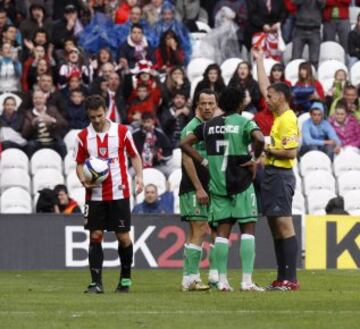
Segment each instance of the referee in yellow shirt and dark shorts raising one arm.
[{"label": "referee in yellow shirt and dark shorts raising one arm", "polygon": [[292,168],[296,163],[300,137],[297,118],[289,106],[290,88],[284,83],[270,84],[262,51],[255,49],[253,55],[261,93],[275,118],[270,132],[271,144],[265,148],[265,174],[261,184],[262,211],[268,218],[278,265],[277,278],[267,289],[298,290],[298,244],[292,220],[296,182]]}]

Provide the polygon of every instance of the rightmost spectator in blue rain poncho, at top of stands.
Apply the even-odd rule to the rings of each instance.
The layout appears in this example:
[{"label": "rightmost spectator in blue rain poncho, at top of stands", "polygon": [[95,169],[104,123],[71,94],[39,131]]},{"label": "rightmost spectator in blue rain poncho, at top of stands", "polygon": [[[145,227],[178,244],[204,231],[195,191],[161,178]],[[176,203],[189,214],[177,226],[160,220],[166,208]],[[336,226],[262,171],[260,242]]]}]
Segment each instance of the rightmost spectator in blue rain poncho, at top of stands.
[{"label": "rightmost spectator in blue rain poncho, at top of stands", "polygon": [[183,23],[175,19],[175,6],[169,2],[164,2],[161,9],[161,19],[154,25],[154,31],[157,37],[156,47],[159,46],[160,36],[168,30],[174,31],[179,37],[185,52],[185,64],[189,63],[191,57],[189,30]]}]

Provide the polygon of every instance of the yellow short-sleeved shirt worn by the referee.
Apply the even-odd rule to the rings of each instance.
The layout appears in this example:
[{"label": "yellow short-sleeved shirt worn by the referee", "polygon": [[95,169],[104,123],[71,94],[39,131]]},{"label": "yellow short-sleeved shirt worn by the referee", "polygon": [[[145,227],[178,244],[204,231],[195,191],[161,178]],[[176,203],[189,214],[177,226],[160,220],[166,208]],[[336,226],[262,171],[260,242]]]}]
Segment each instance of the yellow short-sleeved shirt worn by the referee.
[{"label": "yellow short-sleeved shirt worn by the referee", "polygon": [[[300,132],[297,124],[297,117],[293,110],[289,109],[281,115],[275,116],[270,137],[270,149],[293,149],[299,146]],[[296,159],[277,159],[270,155],[266,159],[265,165],[280,168],[292,168],[295,163]]]}]

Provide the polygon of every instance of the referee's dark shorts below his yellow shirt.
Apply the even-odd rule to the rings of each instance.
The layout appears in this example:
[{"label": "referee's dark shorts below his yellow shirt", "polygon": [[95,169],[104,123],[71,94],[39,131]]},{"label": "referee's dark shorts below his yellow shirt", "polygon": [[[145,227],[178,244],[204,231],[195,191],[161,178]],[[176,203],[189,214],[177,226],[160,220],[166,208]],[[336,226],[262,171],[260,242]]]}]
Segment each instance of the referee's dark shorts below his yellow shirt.
[{"label": "referee's dark shorts below his yellow shirt", "polygon": [[291,216],[295,184],[296,179],[292,169],[266,166],[261,182],[263,215],[267,217]]}]

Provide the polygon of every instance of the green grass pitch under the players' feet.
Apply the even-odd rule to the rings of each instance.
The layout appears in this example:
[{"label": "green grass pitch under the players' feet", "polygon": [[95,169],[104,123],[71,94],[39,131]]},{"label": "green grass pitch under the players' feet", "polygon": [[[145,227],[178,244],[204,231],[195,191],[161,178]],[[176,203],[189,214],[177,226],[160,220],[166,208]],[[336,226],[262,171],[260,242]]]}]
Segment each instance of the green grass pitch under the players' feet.
[{"label": "green grass pitch under the players' feet", "polygon": [[[104,271],[104,295],[85,295],[85,270],[0,271],[0,328],[360,328],[360,275],[299,271],[298,292],[181,292],[181,271],[135,270],[127,295],[114,294],[118,272]],[[274,271],[257,270],[268,284]],[[206,272],[202,273],[206,278]]]}]

